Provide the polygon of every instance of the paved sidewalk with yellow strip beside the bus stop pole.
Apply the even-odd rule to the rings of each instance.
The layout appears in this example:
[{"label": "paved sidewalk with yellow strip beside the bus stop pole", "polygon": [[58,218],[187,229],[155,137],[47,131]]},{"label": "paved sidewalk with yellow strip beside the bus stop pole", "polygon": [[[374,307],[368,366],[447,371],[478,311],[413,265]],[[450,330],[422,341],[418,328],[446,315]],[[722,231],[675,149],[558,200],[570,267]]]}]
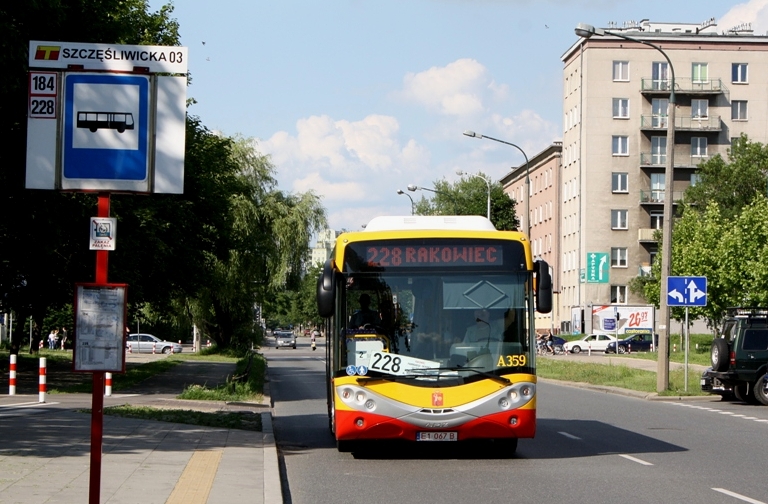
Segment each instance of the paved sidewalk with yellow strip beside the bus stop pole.
[{"label": "paved sidewalk with yellow strip beside the bus stop pole", "polygon": [[[161,358],[161,357],[160,357]],[[215,386],[233,364],[186,361],[137,390],[104,398],[121,404],[260,414],[262,432],[104,416],[101,503],[278,504],[282,502],[270,399],[227,404],[174,399],[185,386]],[[267,392],[267,391],[265,391]],[[89,502],[90,394],[0,395],[0,503]]]}]

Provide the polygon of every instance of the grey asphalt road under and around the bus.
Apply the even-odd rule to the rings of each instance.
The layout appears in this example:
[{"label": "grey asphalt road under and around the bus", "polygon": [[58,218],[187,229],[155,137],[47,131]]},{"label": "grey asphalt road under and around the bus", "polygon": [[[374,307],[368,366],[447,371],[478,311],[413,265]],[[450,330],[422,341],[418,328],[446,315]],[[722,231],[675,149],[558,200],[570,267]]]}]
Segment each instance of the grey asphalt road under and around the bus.
[{"label": "grey asphalt road under and around the bus", "polygon": [[441,443],[356,457],[328,430],[322,344],[264,354],[286,503],[768,503],[766,407],[542,380],[537,435],[514,456]]}]

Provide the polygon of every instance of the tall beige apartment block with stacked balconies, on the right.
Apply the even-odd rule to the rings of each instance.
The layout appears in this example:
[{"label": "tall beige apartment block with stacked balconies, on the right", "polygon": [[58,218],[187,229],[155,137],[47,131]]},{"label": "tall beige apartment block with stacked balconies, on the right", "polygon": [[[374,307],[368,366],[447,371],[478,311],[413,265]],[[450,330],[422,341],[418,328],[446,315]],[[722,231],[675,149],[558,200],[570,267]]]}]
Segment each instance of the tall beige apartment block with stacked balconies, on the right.
[{"label": "tall beige apartment block with stacked balconies, on the right", "polygon": [[[563,141],[555,243],[565,330],[593,304],[642,304],[629,282],[648,274],[663,226],[667,106],[676,97],[675,206],[697,166],[727,159],[733,138],[768,140],[768,36],[749,26],[648,20],[580,38],[562,56]],[[673,74],[674,71],[674,74]],[[532,204],[532,207],[535,205]],[[532,236],[532,239],[535,235]]]}]

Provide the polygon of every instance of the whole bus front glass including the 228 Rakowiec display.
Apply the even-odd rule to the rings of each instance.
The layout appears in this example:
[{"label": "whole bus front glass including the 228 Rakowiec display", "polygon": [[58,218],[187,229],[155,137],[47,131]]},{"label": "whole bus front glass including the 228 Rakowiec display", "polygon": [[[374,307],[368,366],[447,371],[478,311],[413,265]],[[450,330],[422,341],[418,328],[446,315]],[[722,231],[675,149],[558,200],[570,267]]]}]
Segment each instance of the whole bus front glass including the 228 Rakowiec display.
[{"label": "whole bus front glass including the 228 Rakowiec display", "polygon": [[533,373],[519,242],[357,242],[345,251],[338,373],[429,386]]}]

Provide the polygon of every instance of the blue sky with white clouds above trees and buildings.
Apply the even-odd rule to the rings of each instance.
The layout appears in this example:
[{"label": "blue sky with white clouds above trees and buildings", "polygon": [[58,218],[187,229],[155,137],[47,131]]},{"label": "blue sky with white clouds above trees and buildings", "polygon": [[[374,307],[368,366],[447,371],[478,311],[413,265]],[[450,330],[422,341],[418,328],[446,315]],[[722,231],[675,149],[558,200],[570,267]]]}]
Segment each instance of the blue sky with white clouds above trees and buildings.
[{"label": "blue sky with white clouds above trees and buildings", "polygon": [[[151,10],[166,1],[150,0]],[[574,27],[751,23],[768,0],[175,0],[189,113],[252,138],[278,189],[313,191],[329,227],[409,215],[413,184],[493,181],[562,139],[561,56]]]}]

